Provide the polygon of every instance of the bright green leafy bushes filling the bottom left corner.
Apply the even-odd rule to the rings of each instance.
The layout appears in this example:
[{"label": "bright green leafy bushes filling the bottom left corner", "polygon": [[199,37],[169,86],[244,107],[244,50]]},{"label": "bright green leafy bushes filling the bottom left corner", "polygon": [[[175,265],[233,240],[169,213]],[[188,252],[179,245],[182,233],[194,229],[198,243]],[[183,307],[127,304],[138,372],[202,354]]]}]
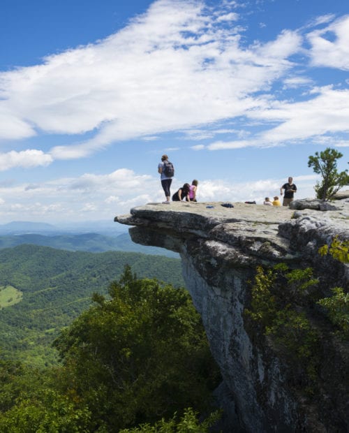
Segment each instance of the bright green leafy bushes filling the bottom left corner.
[{"label": "bright green leafy bushes filling the bottom left corner", "polygon": [[89,410],[55,390],[56,379],[18,362],[0,362],[1,433],[88,432]]}]

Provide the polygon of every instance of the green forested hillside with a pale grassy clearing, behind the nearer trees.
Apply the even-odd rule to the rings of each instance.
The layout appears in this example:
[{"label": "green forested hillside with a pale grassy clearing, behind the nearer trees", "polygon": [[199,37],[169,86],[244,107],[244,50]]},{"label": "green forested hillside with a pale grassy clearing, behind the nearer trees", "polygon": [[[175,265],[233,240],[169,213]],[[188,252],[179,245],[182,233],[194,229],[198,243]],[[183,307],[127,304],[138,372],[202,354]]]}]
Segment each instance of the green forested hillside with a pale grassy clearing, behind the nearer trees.
[{"label": "green forested hillside with a pale grassy clearing, behind the nearer trees", "polygon": [[0,249],[1,358],[39,366],[54,362],[54,337],[89,307],[92,293],[107,293],[126,264],[138,277],[184,286],[176,258],[30,244]]}]

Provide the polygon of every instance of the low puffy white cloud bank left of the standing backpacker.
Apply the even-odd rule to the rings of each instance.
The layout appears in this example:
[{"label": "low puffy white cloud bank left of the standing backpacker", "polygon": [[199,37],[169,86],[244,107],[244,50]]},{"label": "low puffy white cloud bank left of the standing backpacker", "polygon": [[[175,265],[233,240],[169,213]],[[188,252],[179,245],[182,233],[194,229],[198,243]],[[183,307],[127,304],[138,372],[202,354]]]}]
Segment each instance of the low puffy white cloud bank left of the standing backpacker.
[{"label": "low puffy white cloud bank left of the standing backpacker", "polygon": [[[154,191],[150,196],[147,191]],[[0,218],[12,219],[19,212],[40,221],[110,219],[126,213],[130,206],[163,196],[158,178],[132,170],[115,170],[107,175],[86,173],[47,182],[0,184]]]}]

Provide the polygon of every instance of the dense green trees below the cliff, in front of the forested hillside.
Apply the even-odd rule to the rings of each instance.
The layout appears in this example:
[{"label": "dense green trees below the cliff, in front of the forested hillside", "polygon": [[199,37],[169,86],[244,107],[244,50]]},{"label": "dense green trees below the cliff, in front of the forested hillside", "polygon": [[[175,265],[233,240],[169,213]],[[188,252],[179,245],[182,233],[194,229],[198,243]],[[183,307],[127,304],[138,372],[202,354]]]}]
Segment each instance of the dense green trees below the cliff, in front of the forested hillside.
[{"label": "dense green trees below the cliff, in front of the forested hillside", "polygon": [[[57,269],[72,272],[61,258]],[[221,377],[188,292],[138,279],[125,265],[93,300],[54,341],[63,364],[36,369],[0,361],[0,431],[109,433],[161,418],[168,432],[188,431],[174,426],[177,414],[190,431],[207,432],[195,413],[209,415]]]}]

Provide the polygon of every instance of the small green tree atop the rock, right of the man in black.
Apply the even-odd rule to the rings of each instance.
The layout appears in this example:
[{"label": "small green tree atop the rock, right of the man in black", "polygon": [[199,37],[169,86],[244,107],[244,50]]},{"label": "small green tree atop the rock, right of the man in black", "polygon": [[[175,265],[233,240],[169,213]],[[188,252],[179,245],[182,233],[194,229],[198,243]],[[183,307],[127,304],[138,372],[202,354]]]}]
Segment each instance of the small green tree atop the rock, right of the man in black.
[{"label": "small green tree atop the rock, right of the man in black", "polygon": [[342,186],[349,184],[348,170],[337,171],[337,159],[342,156],[341,152],[329,147],[320,154],[315,152],[315,156],[309,156],[308,167],[322,177],[315,185],[316,197],[320,200],[330,200]]}]

